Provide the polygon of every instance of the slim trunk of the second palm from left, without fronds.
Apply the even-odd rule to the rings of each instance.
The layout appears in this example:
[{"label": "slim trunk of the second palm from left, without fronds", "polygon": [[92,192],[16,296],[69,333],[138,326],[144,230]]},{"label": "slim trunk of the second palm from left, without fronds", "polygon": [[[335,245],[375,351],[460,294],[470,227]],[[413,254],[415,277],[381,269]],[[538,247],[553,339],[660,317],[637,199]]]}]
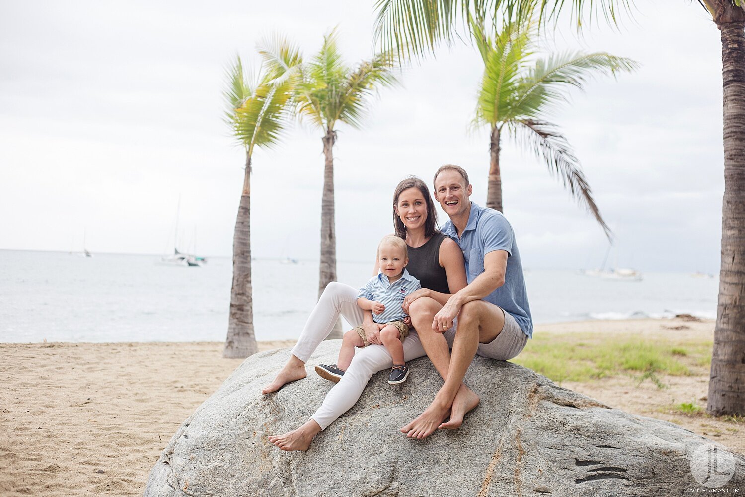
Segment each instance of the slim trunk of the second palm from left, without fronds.
[{"label": "slim trunk of the second palm from left, without fronds", "polygon": [[[318,297],[332,281],[336,281],[336,228],[334,224],[334,143],[336,133],[330,127],[323,136],[323,155],[326,167],[323,170],[323,197],[321,199],[321,260],[318,276]],[[341,323],[336,321],[334,329],[326,338],[341,338]]]}]

